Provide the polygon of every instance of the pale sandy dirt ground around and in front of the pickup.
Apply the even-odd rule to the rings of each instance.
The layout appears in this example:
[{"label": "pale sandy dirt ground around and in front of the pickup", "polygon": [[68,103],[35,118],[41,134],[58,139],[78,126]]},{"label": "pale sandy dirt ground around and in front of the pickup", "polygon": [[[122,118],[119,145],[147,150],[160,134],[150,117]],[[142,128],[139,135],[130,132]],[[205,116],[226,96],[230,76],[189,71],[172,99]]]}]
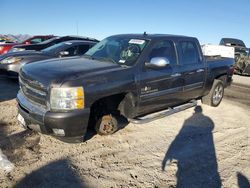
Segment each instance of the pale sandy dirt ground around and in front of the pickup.
[{"label": "pale sandy dirt ground around and in front of the pickup", "polygon": [[24,130],[18,85],[0,78],[0,148],[15,165],[0,187],[249,187],[250,87],[226,90],[217,108],[198,107],[128,124],[80,144]]}]

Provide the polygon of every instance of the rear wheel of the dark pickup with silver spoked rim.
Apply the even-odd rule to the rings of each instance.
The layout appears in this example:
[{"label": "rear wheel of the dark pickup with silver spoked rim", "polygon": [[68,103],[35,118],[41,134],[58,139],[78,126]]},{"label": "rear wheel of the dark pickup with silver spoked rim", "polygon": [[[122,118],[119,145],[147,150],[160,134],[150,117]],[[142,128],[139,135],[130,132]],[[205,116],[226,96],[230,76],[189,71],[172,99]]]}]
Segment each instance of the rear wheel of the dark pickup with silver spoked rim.
[{"label": "rear wheel of the dark pickup with silver spoked rim", "polygon": [[217,107],[222,101],[224,96],[224,83],[221,80],[214,80],[212,89],[209,94],[202,97],[201,102],[203,104]]}]

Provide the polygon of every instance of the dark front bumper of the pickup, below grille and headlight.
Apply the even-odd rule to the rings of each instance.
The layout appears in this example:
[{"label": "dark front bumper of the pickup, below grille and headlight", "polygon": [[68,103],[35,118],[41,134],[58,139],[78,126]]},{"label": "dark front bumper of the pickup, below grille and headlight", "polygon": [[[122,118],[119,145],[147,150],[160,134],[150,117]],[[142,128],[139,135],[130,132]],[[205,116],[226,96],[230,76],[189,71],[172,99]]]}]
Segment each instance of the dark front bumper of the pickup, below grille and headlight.
[{"label": "dark front bumper of the pickup, below grille and headlight", "polygon": [[[21,92],[17,95],[17,102],[18,112],[24,118],[27,128],[66,142],[82,139],[87,132],[90,109],[50,112],[31,103]],[[57,134],[55,130],[63,130],[63,134]]]}]

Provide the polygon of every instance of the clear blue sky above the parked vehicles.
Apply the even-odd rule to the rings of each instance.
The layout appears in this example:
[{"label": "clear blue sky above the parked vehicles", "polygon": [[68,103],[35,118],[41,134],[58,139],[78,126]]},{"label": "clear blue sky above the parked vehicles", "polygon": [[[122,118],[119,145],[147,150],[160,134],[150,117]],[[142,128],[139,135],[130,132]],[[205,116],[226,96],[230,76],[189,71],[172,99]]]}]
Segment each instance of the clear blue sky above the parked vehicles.
[{"label": "clear blue sky above the parked vehicles", "polygon": [[0,0],[0,34],[122,33],[238,38],[250,47],[250,0]]}]

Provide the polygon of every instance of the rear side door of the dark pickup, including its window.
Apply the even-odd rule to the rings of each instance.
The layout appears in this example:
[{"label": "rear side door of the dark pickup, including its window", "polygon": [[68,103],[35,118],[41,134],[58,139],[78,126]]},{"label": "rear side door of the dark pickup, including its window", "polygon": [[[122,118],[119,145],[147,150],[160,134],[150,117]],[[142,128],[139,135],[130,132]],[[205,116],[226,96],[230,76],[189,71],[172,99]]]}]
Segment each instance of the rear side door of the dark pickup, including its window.
[{"label": "rear side door of the dark pickup, including its window", "polygon": [[183,99],[200,97],[206,77],[206,67],[196,41],[179,41],[178,54],[184,77]]}]

